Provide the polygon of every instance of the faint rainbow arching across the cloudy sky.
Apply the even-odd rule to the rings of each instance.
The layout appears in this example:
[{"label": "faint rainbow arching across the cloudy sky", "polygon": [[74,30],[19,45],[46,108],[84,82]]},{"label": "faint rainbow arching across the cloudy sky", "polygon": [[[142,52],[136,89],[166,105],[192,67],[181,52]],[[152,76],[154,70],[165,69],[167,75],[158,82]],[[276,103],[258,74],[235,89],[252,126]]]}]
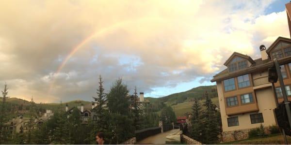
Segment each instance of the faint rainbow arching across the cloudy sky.
[{"label": "faint rainbow arching across the cloudy sky", "polygon": [[122,26],[131,24],[131,23],[138,23],[142,21],[148,21],[148,20],[154,20],[154,21],[164,21],[165,19],[161,19],[159,17],[149,17],[149,18],[140,18],[140,19],[134,19],[134,20],[126,20],[126,21],[121,21],[118,23],[115,23],[107,28],[100,29],[98,31],[93,32],[89,36],[87,36],[85,39],[83,39],[80,43],[78,43],[71,51],[70,53],[65,57],[65,59],[62,61],[61,65],[58,67],[57,71],[52,74],[52,81],[50,82],[50,87],[49,87],[49,93],[51,92],[54,82],[55,82],[55,74],[58,74],[62,71],[62,69],[65,67],[65,64],[68,62],[68,60],[79,50],[82,48],[82,46],[86,43],[88,43],[90,40],[97,36],[102,36],[102,34],[105,34],[106,32],[109,32],[110,30],[114,30],[117,28],[120,28]]}]

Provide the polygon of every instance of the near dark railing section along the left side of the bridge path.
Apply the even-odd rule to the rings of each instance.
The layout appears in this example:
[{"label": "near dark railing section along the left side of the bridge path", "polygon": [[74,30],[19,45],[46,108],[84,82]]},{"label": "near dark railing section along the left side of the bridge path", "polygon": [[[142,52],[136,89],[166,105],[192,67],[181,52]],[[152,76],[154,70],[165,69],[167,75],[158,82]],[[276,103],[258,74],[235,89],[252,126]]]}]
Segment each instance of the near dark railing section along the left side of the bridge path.
[{"label": "near dark railing section along the left side of the bridge path", "polygon": [[140,140],[145,139],[149,136],[161,133],[161,128],[160,127],[146,128],[143,130],[135,131],[134,133],[135,133],[136,140],[140,141]]}]

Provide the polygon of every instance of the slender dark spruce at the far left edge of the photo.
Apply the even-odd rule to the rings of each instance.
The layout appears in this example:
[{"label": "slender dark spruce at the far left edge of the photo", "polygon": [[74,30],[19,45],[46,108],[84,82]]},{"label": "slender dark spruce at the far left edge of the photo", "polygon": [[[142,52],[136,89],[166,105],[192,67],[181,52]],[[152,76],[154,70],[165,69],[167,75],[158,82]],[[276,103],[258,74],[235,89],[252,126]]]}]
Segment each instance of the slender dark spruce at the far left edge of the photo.
[{"label": "slender dark spruce at the far left edge of the photo", "polygon": [[2,91],[2,103],[1,103],[1,114],[0,114],[0,144],[5,144],[10,139],[10,133],[6,130],[7,125],[5,123],[8,121],[7,116],[7,105],[6,100],[9,98],[7,84],[4,85],[4,90]]}]

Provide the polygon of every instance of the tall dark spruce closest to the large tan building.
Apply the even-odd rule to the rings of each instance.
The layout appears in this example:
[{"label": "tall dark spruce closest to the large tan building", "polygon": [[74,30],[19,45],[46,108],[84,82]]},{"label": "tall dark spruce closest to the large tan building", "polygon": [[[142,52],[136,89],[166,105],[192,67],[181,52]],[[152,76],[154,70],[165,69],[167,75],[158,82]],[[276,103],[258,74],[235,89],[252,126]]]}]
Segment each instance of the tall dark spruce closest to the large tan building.
[{"label": "tall dark spruce closest to the large tan building", "polygon": [[206,107],[205,111],[205,133],[206,133],[206,140],[205,144],[215,144],[218,142],[218,135],[219,135],[219,124],[217,122],[217,114],[215,110],[215,105],[212,103],[210,97],[208,96],[207,91],[204,94],[205,96],[205,103],[204,106]]}]

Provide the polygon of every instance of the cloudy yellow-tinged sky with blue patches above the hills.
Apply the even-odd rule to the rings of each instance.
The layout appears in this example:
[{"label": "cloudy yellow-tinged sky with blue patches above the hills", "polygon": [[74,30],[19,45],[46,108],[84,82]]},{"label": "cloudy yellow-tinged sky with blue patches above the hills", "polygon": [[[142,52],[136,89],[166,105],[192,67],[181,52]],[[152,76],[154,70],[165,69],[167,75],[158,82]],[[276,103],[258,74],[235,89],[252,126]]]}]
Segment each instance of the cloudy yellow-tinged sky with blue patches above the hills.
[{"label": "cloudy yellow-tinged sky with blue patches above the hills", "polygon": [[122,78],[162,97],[215,85],[233,52],[290,38],[289,0],[0,0],[0,88],[35,102],[93,101]]}]

